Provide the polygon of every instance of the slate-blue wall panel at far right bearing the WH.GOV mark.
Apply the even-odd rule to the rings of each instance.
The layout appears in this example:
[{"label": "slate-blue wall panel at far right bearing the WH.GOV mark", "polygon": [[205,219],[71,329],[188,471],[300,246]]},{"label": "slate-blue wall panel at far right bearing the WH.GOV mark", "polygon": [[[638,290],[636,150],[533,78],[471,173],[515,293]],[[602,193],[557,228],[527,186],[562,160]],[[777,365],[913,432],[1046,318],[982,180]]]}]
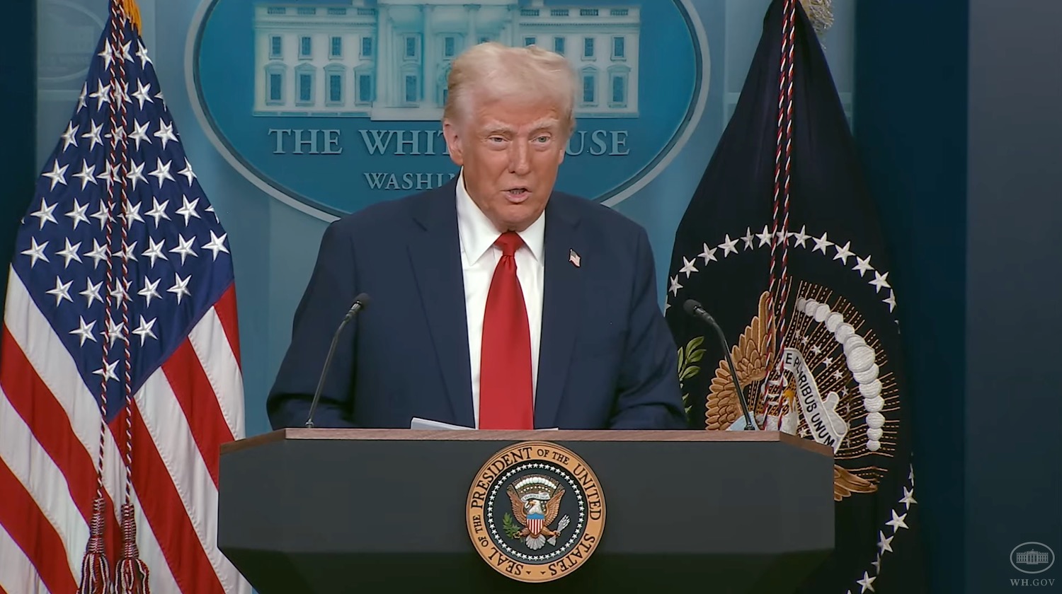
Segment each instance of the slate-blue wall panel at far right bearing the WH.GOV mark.
[{"label": "slate-blue wall panel at far right bearing the WH.GOV mark", "polygon": [[[1029,575],[1009,560],[1027,541],[1062,554],[1060,23],[1059,0],[970,1],[964,536],[971,594],[1011,591],[1012,579],[1028,580],[1018,589],[1062,590],[1059,562]],[[1034,581],[1044,579],[1054,586]]]}]

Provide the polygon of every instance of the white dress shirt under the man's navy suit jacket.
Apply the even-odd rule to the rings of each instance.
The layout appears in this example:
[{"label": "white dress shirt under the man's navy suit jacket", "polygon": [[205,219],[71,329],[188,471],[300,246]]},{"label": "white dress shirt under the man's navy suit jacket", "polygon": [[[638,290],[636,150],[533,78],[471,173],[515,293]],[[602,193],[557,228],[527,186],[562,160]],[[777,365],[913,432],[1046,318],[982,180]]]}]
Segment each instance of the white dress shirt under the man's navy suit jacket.
[{"label": "white dress shirt under the man's navy suit jacket", "polygon": [[[461,239],[461,269],[464,275],[465,312],[468,321],[468,361],[472,363],[472,407],[479,429],[479,363],[483,340],[483,311],[491,290],[494,268],[501,259],[501,248],[494,242],[501,235],[490,219],[472,200],[458,176],[458,235]],[[524,293],[531,331],[531,395],[538,385],[538,342],[542,336],[543,243],[546,237],[545,212],[527,229],[519,231],[524,245],[516,250],[516,277]]]}]

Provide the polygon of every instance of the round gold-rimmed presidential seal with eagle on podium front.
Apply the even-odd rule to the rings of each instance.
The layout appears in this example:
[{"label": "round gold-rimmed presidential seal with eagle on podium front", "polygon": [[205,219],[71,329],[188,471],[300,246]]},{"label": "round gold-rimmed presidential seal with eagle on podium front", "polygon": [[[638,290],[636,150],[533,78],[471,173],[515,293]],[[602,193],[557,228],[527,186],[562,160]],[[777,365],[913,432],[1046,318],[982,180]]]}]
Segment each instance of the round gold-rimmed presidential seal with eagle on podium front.
[{"label": "round gold-rimmed presidential seal with eagle on podium front", "polygon": [[570,450],[524,441],[479,470],[465,506],[476,552],[519,581],[550,581],[593,555],[604,529],[604,495],[594,471]]}]

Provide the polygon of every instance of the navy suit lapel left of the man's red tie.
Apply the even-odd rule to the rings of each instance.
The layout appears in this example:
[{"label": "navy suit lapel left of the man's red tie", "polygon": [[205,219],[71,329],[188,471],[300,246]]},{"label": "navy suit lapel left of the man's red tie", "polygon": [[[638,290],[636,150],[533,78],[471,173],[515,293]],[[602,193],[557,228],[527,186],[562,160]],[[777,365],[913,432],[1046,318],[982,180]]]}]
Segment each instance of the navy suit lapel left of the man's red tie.
[{"label": "navy suit lapel left of the man's red tie", "polygon": [[414,204],[413,217],[423,232],[410,242],[409,257],[453,422],[470,427],[475,417],[455,188],[451,181]]}]

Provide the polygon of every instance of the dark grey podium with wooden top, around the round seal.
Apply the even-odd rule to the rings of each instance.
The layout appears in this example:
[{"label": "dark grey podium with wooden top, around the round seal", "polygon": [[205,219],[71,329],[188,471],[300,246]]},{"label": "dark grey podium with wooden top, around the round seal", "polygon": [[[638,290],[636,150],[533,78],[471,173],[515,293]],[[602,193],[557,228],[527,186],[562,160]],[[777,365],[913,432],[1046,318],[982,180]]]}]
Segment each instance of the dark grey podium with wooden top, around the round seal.
[{"label": "dark grey podium with wooden top, around the round seal", "polygon": [[[595,473],[597,548],[525,583],[480,558],[466,501],[499,450]],[[834,547],[833,451],[777,432],[287,429],[221,449],[218,544],[260,594],[793,591]]]}]

